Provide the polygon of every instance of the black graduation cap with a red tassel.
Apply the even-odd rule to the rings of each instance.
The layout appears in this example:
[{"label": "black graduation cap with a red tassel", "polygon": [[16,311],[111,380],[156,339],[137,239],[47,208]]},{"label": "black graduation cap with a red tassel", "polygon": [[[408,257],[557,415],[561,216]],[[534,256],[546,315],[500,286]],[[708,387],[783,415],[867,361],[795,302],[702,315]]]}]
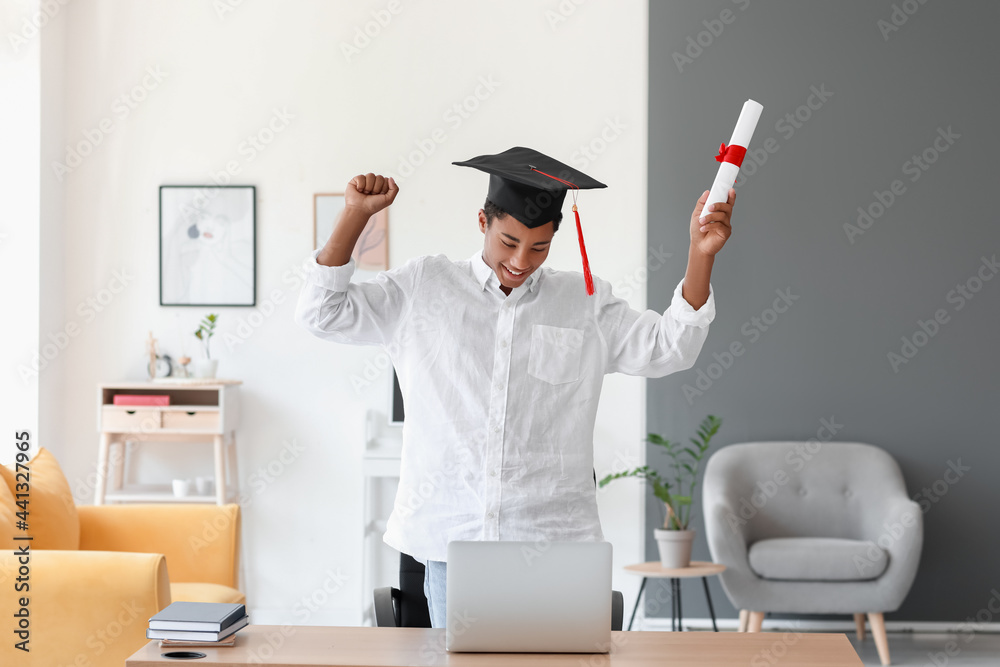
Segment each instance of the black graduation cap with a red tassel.
[{"label": "black graduation cap with a red tassel", "polygon": [[583,277],[587,294],[594,293],[594,279],[590,275],[587,247],[583,243],[583,227],[580,226],[580,213],[576,208],[576,195],[580,190],[606,188],[606,185],[548,155],[521,146],[496,155],[480,155],[452,164],[474,167],[489,174],[487,198],[529,228],[540,227],[559,217],[566,191],[572,190],[576,233],[580,239],[580,255],[583,258]]}]

